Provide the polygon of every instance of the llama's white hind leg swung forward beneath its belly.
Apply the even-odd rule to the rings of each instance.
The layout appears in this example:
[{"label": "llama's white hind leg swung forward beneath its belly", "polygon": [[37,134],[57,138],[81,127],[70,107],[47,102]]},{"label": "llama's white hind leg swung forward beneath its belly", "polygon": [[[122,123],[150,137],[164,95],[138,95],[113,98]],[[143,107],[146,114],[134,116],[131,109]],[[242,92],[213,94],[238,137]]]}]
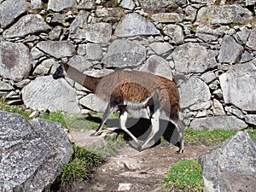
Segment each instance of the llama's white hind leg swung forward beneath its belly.
[{"label": "llama's white hind leg swung forward beneath its belly", "polygon": [[142,149],[154,138],[156,133],[160,130],[160,109],[156,109],[151,117],[152,131],[150,132],[147,140],[143,143]]}]

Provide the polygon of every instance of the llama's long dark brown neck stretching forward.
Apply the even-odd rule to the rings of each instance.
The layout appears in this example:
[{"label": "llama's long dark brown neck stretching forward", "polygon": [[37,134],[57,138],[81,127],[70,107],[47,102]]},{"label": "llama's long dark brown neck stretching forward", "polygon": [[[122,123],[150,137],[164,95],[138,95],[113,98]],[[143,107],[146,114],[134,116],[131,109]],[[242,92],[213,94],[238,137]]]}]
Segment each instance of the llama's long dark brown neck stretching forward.
[{"label": "llama's long dark brown neck stretching forward", "polygon": [[63,65],[64,65],[64,69],[66,72],[66,76],[68,78],[73,79],[75,82],[83,85],[85,88],[87,88],[88,90],[91,90],[93,93],[95,93],[96,86],[97,86],[97,84],[99,84],[99,82],[102,78],[95,78],[90,75],[81,73],[76,68],[71,67],[67,64],[63,64]]}]

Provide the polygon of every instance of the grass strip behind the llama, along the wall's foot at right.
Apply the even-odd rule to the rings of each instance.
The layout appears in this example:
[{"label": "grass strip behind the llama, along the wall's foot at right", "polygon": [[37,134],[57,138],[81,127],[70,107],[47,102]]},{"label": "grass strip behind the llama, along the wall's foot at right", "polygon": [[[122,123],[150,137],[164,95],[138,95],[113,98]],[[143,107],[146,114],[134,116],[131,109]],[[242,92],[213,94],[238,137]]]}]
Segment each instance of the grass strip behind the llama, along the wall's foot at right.
[{"label": "grass strip behind the llama, along the wall's foot at right", "polygon": [[206,144],[206,145],[218,144],[234,136],[236,132],[237,131],[225,131],[225,130],[196,131],[189,128],[185,131],[185,141],[188,144]]}]

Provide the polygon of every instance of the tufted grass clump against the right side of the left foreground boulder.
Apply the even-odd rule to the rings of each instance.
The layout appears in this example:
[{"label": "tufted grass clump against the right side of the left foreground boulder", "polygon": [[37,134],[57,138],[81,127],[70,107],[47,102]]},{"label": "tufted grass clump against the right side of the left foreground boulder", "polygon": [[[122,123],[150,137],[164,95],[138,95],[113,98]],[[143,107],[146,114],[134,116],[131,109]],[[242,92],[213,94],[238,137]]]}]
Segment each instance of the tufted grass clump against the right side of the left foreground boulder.
[{"label": "tufted grass clump against the right side of the left foreground boulder", "polygon": [[90,152],[86,148],[74,145],[73,157],[66,166],[62,167],[61,183],[67,184],[87,180],[92,167],[102,164],[103,161],[101,156]]}]

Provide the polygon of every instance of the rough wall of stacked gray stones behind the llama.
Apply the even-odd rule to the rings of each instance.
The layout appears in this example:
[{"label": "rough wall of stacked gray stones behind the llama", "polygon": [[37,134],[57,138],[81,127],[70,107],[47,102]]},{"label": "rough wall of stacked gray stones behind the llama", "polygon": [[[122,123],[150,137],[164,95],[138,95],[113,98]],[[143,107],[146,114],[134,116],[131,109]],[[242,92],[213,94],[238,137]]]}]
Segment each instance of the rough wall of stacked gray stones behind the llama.
[{"label": "rough wall of stacked gray stones behind the llama", "polygon": [[89,90],[51,78],[62,60],[94,76],[130,68],[176,79],[183,121],[195,129],[256,125],[255,2],[0,0],[0,96],[102,111]]}]

